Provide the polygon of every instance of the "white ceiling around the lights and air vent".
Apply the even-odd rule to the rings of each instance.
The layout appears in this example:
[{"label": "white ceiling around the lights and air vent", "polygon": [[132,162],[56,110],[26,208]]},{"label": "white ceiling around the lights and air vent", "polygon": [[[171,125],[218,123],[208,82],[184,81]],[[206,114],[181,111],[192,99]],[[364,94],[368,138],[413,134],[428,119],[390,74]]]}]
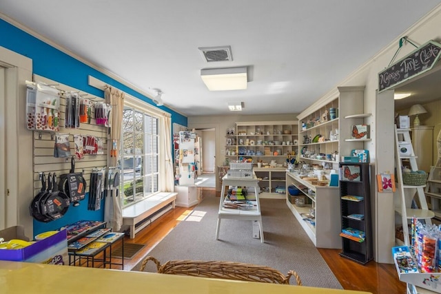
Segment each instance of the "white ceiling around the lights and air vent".
[{"label": "white ceiling around the lights and air vent", "polygon": [[[402,36],[439,0],[0,0],[0,12],[187,116],[298,113]],[[230,45],[232,62],[200,47]],[[398,44],[397,44],[398,46]],[[247,90],[200,70],[247,66]]]}]

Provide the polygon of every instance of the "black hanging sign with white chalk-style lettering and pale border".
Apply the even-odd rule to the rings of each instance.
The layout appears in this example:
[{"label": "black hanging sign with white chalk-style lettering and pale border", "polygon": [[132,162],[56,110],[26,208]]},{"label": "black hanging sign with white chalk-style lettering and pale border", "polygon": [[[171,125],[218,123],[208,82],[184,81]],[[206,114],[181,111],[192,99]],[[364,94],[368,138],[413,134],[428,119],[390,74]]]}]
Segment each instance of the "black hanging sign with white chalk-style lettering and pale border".
[{"label": "black hanging sign with white chalk-style lettering and pale border", "polygon": [[429,41],[378,74],[378,92],[388,90],[428,70],[438,61],[441,44]]}]

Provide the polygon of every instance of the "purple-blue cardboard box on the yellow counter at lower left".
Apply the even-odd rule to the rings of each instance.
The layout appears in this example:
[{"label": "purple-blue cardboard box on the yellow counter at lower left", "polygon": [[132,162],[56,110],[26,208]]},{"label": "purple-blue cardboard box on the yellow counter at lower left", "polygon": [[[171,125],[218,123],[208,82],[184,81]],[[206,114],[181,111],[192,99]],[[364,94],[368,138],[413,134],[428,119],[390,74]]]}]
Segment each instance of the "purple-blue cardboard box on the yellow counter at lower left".
[{"label": "purple-blue cardboard box on the yellow counter at lower left", "polygon": [[[5,241],[19,239],[28,241],[23,226],[10,227],[0,231]],[[12,262],[35,262],[44,264],[68,265],[68,237],[66,230],[59,231],[48,238],[34,242],[22,249],[1,249],[0,260]]]}]

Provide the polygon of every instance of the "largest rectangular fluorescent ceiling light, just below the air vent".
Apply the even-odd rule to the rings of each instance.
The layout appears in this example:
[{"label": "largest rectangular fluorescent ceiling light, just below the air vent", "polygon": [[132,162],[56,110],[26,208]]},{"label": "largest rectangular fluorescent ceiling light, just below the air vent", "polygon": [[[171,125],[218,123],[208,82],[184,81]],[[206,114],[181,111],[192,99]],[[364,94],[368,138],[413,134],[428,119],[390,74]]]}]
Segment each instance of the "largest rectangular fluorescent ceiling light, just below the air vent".
[{"label": "largest rectangular fluorescent ceiling light, just below the air vent", "polygon": [[210,91],[247,89],[247,67],[201,70],[201,78]]}]

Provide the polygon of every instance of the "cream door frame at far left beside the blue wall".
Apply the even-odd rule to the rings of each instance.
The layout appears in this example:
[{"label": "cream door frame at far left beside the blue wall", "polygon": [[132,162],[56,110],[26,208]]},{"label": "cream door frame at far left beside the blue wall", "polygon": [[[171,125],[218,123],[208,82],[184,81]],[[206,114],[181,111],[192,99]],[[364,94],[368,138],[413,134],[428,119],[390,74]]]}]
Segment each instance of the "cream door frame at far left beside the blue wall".
[{"label": "cream door frame at far left beside the blue wall", "polygon": [[5,213],[4,227],[23,225],[25,235],[33,236],[33,220],[29,204],[34,193],[32,134],[26,128],[26,83],[32,81],[32,59],[0,46],[0,65],[5,67],[4,123],[0,125],[5,140],[3,178],[0,193]]}]

